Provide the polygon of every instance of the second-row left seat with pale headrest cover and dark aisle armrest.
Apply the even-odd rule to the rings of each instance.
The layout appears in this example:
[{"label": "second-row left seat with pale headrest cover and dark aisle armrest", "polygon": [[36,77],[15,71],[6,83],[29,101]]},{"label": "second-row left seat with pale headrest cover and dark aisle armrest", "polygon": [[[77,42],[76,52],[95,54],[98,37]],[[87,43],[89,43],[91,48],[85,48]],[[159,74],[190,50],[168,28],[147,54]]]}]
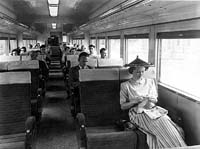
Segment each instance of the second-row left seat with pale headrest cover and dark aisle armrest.
[{"label": "second-row left seat with pale headrest cover and dark aisle armrest", "polygon": [[31,113],[40,120],[42,112],[42,100],[45,95],[45,80],[41,77],[39,61],[12,61],[0,62],[0,72],[22,72],[29,71],[31,74]]}]

